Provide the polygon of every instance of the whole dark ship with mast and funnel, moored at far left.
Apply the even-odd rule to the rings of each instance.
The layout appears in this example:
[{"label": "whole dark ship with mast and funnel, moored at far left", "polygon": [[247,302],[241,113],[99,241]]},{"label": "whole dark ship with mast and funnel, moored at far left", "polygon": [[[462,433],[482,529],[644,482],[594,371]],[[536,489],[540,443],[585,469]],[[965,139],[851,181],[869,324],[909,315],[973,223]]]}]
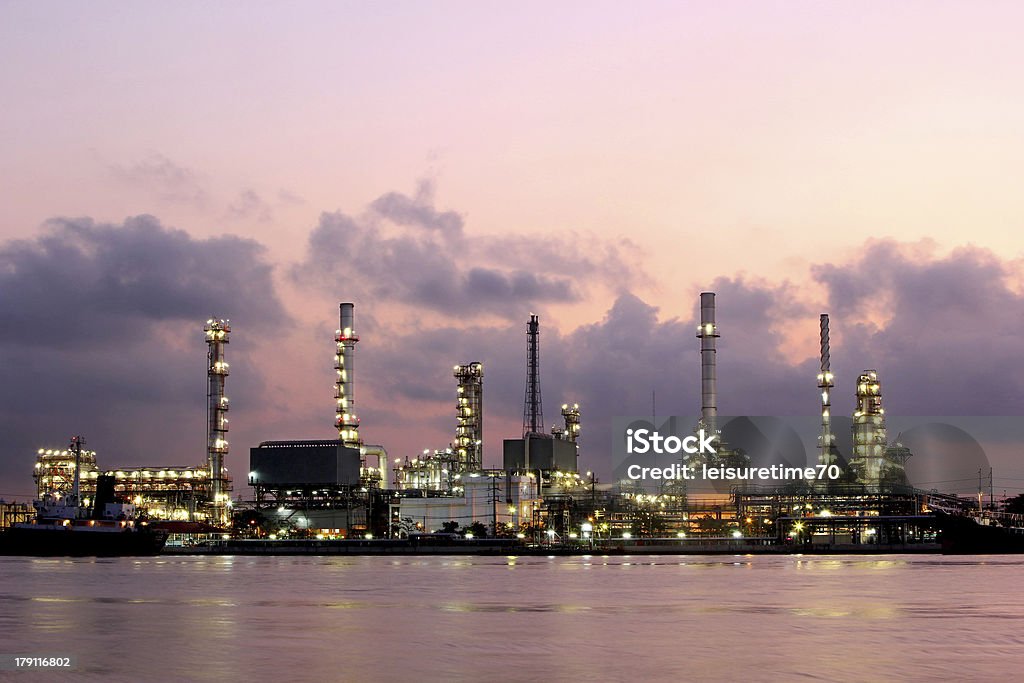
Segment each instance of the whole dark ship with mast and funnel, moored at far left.
[{"label": "whole dark ship with mast and funnel, moored at far left", "polygon": [[0,530],[0,555],[126,556],[156,555],[167,531],[150,526],[135,506],[119,502],[114,477],[100,476],[91,506],[81,504],[79,476],[82,439],[72,439],[75,482],[66,496],[47,495],[34,502],[36,517]]}]

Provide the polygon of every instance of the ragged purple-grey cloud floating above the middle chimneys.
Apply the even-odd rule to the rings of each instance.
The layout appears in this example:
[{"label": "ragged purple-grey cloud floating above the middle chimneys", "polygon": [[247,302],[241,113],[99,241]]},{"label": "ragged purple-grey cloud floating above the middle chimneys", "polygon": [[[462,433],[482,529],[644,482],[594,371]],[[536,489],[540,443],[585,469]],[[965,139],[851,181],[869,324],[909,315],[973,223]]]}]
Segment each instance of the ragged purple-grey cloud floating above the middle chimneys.
[{"label": "ragged purple-grey cloud floating above the middle chimneys", "polygon": [[642,268],[624,256],[635,250],[577,236],[472,238],[458,214],[434,209],[430,185],[421,184],[415,198],[384,195],[359,218],[322,214],[292,274],[376,304],[514,319],[543,304],[579,301],[595,285],[621,291],[639,282]]}]

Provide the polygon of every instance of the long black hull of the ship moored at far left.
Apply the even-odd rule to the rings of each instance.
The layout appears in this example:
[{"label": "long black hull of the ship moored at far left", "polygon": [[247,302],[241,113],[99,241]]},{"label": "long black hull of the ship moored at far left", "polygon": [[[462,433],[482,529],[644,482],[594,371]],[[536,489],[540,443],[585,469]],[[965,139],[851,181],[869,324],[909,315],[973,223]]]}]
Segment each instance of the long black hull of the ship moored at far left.
[{"label": "long black hull of the ship moored at far left", "polygon": [[0,555],[32,557],[120,557],[157,555],[167,542],[160,529],[87,531],[42,526],[0,532]]}]

